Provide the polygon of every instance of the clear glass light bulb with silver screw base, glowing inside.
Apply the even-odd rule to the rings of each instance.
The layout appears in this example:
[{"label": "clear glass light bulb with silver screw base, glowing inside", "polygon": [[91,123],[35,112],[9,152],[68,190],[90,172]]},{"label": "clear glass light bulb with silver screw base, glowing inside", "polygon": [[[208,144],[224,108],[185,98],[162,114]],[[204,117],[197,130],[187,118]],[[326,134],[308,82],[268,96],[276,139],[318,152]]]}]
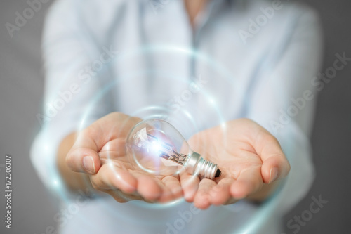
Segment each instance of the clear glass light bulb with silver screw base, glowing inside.
[{"label": "clear glass light bulb with silver screw base, glowing inside", "polygon": [[126,140],[129,160],[155,175],[176,175],[181,171],[213,179],[220,176],[217,164],[190,149],[180,132],[162,119],[146,119],[136,124]]}]

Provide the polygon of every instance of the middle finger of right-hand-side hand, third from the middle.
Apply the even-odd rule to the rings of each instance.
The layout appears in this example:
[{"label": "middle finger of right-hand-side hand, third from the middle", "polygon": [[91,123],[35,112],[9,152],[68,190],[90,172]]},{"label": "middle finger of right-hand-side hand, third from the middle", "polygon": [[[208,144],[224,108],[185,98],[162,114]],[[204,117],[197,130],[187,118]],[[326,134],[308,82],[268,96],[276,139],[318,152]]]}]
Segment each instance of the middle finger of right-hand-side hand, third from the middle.
[{"label": "middle finger of right-hand-side hand, third from the middle", "polygon": [[232,195],[230,194],[230,186],[234,183],[233,178],[223,178],[210,191],[211,204],[225,204]]}]

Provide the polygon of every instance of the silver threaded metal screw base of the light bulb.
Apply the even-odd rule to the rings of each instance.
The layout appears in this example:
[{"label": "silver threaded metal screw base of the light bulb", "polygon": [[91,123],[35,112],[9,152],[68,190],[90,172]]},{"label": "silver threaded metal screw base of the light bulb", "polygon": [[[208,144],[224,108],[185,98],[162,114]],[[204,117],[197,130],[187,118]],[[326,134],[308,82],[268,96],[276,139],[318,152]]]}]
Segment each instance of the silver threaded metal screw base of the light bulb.
[{"label": "silver threaded metal screw base of the light bulb", "polygon": [[190,155],[185,165],[185,172],[200,175],[211,180],[215,177],[219,177],[221,174],[217,164],[204,160],[197,152],[193,152],[192,155]]}]

